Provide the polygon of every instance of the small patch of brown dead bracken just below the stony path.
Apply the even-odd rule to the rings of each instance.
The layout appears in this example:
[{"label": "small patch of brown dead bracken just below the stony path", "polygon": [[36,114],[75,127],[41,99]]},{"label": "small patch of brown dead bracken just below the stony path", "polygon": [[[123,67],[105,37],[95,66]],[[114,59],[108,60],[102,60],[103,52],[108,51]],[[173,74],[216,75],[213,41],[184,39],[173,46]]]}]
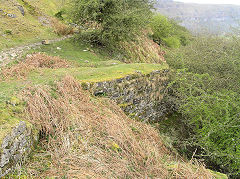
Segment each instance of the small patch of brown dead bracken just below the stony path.
[{"label": "small patch of brown dead bracken just below the stony path", "polygon": [[37,68],[68,68],[71,64],[66,60],[59,57],[48,56],[43,53],[35,53],[28,55],[26,60],[13,65],[11,67],[5,67],[1,71],[2,79],[9,79],[12,77],[21,79]]}]

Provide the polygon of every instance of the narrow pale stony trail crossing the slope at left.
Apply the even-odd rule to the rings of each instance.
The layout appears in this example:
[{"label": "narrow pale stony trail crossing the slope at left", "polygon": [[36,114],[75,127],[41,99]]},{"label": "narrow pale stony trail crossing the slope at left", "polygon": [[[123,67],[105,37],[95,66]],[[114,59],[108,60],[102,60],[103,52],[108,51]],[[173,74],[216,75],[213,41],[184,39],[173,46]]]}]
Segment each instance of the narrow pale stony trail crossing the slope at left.
[{"label": "narrow pale stony trail crossing the slope at left", "polygon": [[[64,36],[64,37],[61,37],[61,38],[48,40],[48,41],[51,44],[51,43],[55,43],[55,42],[65,40],[65,39],[70,38],[70,37],[72,37],[72,35],[68,35],[68,36]],[[42,42],[36,42],[36,43],[23,45],[23,46],[18,46],[18,47],[13,47],[13,48],[10,48],[10,49],[0,51],[0,67],[5,66],[6,64],[11,62],[12,60],[16,60],[16,59],[21,58],[26,50],[34,49],[34,48],[40,47],[41,45],[43,45]]]}]

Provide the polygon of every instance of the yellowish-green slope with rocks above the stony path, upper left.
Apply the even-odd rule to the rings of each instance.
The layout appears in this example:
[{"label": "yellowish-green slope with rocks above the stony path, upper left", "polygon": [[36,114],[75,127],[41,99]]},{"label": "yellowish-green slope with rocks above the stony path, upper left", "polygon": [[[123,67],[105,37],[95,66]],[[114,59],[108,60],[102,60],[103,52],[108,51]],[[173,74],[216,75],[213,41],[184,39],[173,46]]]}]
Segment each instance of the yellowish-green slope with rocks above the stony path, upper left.
[{"label": "yellowish-green slope with rocks above the stony path, upper left", "polygon": [[[22,7],[24,15],[19,10]],[[56,38],[51,28],[51,16],[58,12],[57,0],[1,0],[0,50],[42,39]],[[8,14],[14,16],[9,17]]]}]

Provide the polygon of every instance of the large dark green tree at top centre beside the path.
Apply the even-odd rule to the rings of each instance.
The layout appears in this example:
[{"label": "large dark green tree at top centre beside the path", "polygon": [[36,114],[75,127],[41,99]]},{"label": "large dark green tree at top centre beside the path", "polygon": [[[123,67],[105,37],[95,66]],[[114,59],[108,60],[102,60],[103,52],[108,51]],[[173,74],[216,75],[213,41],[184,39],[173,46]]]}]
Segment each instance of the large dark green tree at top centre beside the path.
[{"label": "large dark green tree at top centre beside the path", "polygon": [[72,0],[72,21],[90,30],[94,44],[113,45],[133,38],[151,17],[151,0]]}]

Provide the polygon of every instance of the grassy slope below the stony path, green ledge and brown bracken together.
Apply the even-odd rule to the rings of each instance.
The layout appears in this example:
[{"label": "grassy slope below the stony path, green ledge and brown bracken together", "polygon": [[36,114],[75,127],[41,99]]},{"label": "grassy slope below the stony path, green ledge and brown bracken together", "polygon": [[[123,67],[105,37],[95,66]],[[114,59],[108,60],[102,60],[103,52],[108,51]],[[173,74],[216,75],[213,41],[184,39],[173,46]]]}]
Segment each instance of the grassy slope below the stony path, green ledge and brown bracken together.
[{"label": "grassy slope below the stony path, green ledge and brown bracken together", "polygon": [[[19,120],[46,127],[50,134],[41,136],[27,164],[9,177],[211,178],[214,174],[201,164],[176,158],[154,127],[129,119],[116,104],[81,89],[80,82],[112,80],[136,71],[147,74],[168,65],[125,64],[95,50],[70,39],[30,51],[25,60],[2,68],[1,136]],[[47,113],[59,119],[59,127]]]}]

